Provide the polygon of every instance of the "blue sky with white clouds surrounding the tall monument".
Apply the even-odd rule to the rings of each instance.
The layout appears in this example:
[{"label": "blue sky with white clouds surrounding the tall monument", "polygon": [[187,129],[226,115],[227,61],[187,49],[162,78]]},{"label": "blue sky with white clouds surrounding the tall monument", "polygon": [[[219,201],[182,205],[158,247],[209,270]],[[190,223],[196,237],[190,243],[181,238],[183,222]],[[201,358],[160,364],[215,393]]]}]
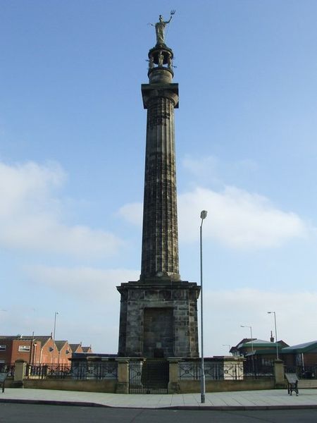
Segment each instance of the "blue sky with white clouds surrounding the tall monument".
[{"label": "blue sky with white clouds surrounding the tall monument", "polygon": [[[147,53],[159,14],[175,111],[180,274],[206,355],[316,339],[316,1],[0,1],[1,333],[116,353],[141,260]],[[295,314],[294,314],[295,313]]]}]

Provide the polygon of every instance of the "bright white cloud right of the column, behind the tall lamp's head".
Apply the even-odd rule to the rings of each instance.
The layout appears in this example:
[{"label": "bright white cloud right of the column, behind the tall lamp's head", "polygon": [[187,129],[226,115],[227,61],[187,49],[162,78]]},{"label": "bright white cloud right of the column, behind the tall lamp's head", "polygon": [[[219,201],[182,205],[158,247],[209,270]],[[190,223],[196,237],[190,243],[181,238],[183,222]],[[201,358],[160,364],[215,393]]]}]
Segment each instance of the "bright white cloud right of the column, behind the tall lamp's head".
[{"label": "bright white cloud right of the column, behind the tall lamp's head", "polygon": [[233,248],[278,247],[308,234],[306,223],[292,212],[283,212],[270,200],[235,187],[221,192],[196,188],[179,197],[180,240],[197,238],[197,219],[209,211],[204,236]]}]

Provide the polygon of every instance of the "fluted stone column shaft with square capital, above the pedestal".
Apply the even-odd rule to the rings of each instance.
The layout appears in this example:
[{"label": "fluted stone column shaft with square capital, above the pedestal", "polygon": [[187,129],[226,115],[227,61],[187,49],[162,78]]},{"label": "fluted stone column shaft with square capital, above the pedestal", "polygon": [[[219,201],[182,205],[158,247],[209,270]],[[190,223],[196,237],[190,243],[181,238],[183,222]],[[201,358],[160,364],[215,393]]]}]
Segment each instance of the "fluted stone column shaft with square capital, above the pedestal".
[{"label": "fluted stone column shaft with square capital, above the pedestal", "polygon": [[141,279],[163,276],[180,280],[174,136],[178,84],[170,83],[172,76],[168,68],[154,68],[149,73],[150,83],[142,85],[147,147]]}]

